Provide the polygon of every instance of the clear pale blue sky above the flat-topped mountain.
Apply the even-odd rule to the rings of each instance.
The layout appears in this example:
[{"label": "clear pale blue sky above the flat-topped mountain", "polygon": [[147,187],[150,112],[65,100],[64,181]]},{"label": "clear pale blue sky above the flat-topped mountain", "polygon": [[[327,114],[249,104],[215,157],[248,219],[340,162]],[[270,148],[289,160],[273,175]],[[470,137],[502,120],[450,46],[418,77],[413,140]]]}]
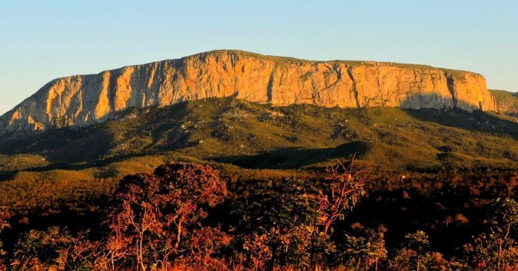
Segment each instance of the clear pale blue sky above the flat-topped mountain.
[{"label": "clear pale blue sky above the flat-topped mountain", "polygon": [[0,1],[0,113],[51,79],[240,49],[423,63],[518,91],[518,1]]}]

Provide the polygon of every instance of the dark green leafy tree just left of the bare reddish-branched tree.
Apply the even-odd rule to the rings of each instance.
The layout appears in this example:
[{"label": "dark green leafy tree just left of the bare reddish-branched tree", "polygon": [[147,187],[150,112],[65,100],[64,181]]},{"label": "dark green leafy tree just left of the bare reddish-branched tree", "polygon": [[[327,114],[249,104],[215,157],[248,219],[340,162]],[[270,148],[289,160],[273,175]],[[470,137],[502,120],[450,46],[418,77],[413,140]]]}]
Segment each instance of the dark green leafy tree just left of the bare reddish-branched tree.
[{"label": "dark green leafy tree just left of the bare reddish-branched tree", "polygon": [[[240,225],[249,234],[244,250],[251,257],[264,257],[258,267],[274,270],[276,265],[307,266],[309,228],[315,217],[311,207],[311,185],[296,179],[261,183],[236,210]],[[266,257],[265,257],[266,256]]]}]

